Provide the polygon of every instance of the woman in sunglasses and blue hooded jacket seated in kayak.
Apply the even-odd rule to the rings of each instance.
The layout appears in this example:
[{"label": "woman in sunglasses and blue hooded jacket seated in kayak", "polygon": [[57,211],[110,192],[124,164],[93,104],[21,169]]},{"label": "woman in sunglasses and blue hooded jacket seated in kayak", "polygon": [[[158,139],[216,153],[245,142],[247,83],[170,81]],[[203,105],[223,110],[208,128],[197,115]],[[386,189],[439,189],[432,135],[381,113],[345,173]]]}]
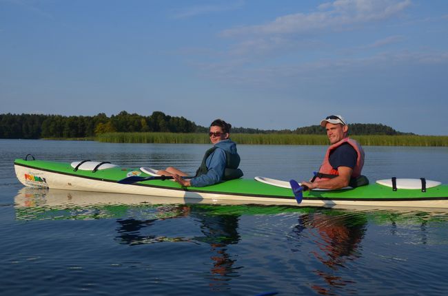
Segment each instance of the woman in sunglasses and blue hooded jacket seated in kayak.
[{"label": "woman in sunglasses and blue hooded jacket seated in kayak", "polygon": [[205,152],[201,167],[196,171],[196,176],[190,180],[182,177],[187,173],[167,167],[165,170],[158,171],[159,175],[173,176],[174,180],[182,186],[204,187],[223,180],[232,180],[241,178],[243,171],[238,169],[240,156],[236,152],[236,143],[230,140],[230,129],[232,125],[224,120],[216,119],[210,125],[210,141],[213,144],[211,149]]}]

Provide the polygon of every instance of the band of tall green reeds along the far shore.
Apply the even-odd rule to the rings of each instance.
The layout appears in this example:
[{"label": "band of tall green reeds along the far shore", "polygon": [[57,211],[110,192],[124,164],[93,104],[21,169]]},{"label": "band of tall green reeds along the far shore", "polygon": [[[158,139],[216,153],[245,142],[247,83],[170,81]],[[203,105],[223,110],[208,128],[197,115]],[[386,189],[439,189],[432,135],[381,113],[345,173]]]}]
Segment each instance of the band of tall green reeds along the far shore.
[{"label": "band of tall green reeds along the far shore", "polygon": [[[326,135],[298,134],[232,134],[232,140],[247,145],[328,145]],[[448,147],[448,136],[352,136],[365,146]],[[97,137],[99,142],[209,144],[207,134],[182,133],[108,133]]]}]

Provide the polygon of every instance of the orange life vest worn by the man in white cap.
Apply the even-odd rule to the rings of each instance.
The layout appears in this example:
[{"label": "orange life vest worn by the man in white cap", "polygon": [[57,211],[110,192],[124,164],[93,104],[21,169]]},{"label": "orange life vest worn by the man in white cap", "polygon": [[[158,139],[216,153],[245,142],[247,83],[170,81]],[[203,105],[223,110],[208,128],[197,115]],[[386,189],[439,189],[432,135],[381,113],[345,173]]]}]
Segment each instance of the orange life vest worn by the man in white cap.
[{"label": "orange life vest worn by the man in white cap", "polygon": [[[351,145],[355,149],[356,154],[358,154],[358,158],[356,158],[356,165],[353,168],[352,178],[358,178],[361,175],[361,170],[363,169],[363,166],[364,166],[364,150],[363,150],[363,147],[361,147],[361,145],[359,145],[359,143],[356,142],[356,140],[353,140],[351,138],[343,138],[339,142],[334,143],[333,145],[328,147],[327,153],[325,154],[325,158],[323,159],[322,165],[320,165],[320,169],[319,169],[318,175],[315,176],[315,178],[313,178],[312,182],[314,182],[314,181],[321,181],[321,180],[328,180],[329,178],[332,178],[331,176],[335,176],[336,177],[336,176],[339,175],[338,170],[337,169],[333,169],[332,165],[330,165],[330,163],[329,163],[329,155],[332,153],[332,151],[334,151],[334,149],[336,149],[340,145],[343,145],[346,142],[349,145]],[[331,176],[322,176],[322,174],[323,175],[331,175]]]}]

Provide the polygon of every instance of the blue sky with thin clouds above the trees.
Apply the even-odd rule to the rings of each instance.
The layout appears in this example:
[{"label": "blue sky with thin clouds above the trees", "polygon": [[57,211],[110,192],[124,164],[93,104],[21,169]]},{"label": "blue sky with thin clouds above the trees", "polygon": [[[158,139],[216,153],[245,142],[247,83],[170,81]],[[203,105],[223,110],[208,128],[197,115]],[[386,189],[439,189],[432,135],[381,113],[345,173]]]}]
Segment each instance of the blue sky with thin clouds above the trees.
[{"label": "blue sky with thin clouds above the trees", "polygon": [[0,0],[0,113],[448,135],[448,1]]}]

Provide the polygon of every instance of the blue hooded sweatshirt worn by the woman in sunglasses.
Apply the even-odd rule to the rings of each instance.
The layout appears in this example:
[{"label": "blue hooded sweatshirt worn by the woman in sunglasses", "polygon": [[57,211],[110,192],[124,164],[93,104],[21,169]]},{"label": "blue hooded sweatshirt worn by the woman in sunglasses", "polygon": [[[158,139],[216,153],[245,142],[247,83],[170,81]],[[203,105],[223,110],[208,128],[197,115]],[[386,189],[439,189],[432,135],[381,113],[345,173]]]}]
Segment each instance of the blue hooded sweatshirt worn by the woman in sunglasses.
[{"label": "blue hooded sweatshirt worn by the woman in sunglasses", "polygon": [[236,143],[230,139],[221,140],[217,142],[214,147],[215,151],[210,154],[205,160],[207,166],[207,173],[205,175],[194,177],[190,180],[190,184],[193,187],[204,187],[212,184],[216,184],[223,180],[226,156],[225,151],[230,154],[236,154]]}]

